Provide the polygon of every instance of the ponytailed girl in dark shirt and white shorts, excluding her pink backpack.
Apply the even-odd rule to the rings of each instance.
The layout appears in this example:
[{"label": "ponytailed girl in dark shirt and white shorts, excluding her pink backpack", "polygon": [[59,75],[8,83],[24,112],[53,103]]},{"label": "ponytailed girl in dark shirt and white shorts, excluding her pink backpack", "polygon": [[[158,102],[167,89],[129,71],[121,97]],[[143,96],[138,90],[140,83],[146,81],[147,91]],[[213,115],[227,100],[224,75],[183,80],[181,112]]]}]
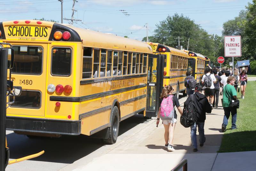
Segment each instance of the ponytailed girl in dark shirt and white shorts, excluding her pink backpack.
[{"label": "ponytailed girl in dark shirt and white shorts, excluding her pink backpack", "polygon": [[[174,91],[174,89],[172,88],[172,86],[167,85],[163,88],[163,91],[160,96],[160,106],[161,106],[163,99],[167,98],[169,96],[171,96],[172,103],[173,103],[172,105],[173,105],[173,110],[174,110],[174,117],[172,118],[172,120],[163,120],[165,147],[168,148],[168,150],[171,152],[175,151],[175,149],[172,146],[173,137],[174,137],[174,129],[175,129],[175,125],[177,122],[177,114],[176,114],[176,111],[174,108],[175,106],[177,107],[178,111],[180,112],[180,115],[182,115],[182,109],[180,107],[178,98],[176,96],[172,96],[173,91]],[[160,122],[160,112],[161,112],[161,107],[159,107],[159,111],[157,114],[156,125],[158,125]],[[169,143],[168,143],[168,141],[169,141]]]}]

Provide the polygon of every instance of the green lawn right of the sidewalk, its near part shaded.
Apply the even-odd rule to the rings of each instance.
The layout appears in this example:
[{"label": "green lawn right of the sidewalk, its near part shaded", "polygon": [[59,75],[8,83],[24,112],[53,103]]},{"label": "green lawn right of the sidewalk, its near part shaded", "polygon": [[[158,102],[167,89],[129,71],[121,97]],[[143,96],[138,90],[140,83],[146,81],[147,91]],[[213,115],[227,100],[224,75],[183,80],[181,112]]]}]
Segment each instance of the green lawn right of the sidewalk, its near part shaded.
[{"label": "green lawn right of the sidewalk, its near part shaded", "polygon": [[[248,82],[245,99],[240,99],[237,109],[236,126],[231,130],[231,115],[228,120],[227,131],[222,137],[218,152],[256,151],[256,82]],[[237,97],[241,96],[241,92]]]}]

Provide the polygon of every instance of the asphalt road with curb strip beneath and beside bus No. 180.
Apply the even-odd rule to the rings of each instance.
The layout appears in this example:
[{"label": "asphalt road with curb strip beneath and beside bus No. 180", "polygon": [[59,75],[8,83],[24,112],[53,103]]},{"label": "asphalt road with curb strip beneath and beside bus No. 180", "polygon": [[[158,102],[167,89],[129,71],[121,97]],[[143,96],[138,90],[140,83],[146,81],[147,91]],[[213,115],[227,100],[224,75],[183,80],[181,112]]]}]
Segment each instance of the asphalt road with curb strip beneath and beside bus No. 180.
[{"label": "asphalt road with curb strip beneath and beside bus No. 180", "polygon": [[[180,100],[182,96],[180,96]],[[153,120],[145,120],[142,115],[134,115],[120,123],[116,144],[104,145],[101,139],[88,136],[61,136],[60,138],[28,138],[12,131],[6,131],[10,160],[28,156],[42,150],[45,153],[37,158],[14,163],[6,167],[6,171],[57,171],[72,170],[79,165],[86,165],[93,158],[100,157],[124,142],[136,132],[147,127]],[[73,164],[72,164],[73,163]],[[72,164],[72,165],[70,165]],[[71,167],[69,167],[69,165]]]}]

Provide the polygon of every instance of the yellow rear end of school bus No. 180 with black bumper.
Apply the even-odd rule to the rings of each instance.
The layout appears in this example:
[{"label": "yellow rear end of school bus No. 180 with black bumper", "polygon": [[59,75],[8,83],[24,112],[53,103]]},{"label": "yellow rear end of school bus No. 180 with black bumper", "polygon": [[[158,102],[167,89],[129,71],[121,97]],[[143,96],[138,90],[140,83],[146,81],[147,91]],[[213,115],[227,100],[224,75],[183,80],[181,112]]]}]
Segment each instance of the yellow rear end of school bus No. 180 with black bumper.
[{"label": "yellow rear end of school bus No. 180 with black bumper", "polygon": [[50,99],[79,95],[76,57],[82,43],[76,31],[36,20],[1,22],[0,30],[0,42],[11,43],[15,50],[11,80],[22,87],[7,109],[6,129],[36,136],[79,135],[78,106]]}]

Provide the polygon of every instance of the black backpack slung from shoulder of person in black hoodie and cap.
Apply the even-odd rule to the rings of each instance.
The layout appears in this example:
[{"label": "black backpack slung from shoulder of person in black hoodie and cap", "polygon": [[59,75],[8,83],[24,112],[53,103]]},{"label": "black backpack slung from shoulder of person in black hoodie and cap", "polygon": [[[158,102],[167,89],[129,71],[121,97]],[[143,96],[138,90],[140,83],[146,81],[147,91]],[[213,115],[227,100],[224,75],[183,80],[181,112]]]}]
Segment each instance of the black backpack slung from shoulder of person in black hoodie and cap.
[{"label": "black backpack slung from shoulder of person in black hoodie and cap", "polygon": [[194,95],[190,95],[191,100],[188,105],[184,107],[182,116],[180,116],[180,124],[185,128],[194,125],[196,122],[196,105],[194,104]]}]

